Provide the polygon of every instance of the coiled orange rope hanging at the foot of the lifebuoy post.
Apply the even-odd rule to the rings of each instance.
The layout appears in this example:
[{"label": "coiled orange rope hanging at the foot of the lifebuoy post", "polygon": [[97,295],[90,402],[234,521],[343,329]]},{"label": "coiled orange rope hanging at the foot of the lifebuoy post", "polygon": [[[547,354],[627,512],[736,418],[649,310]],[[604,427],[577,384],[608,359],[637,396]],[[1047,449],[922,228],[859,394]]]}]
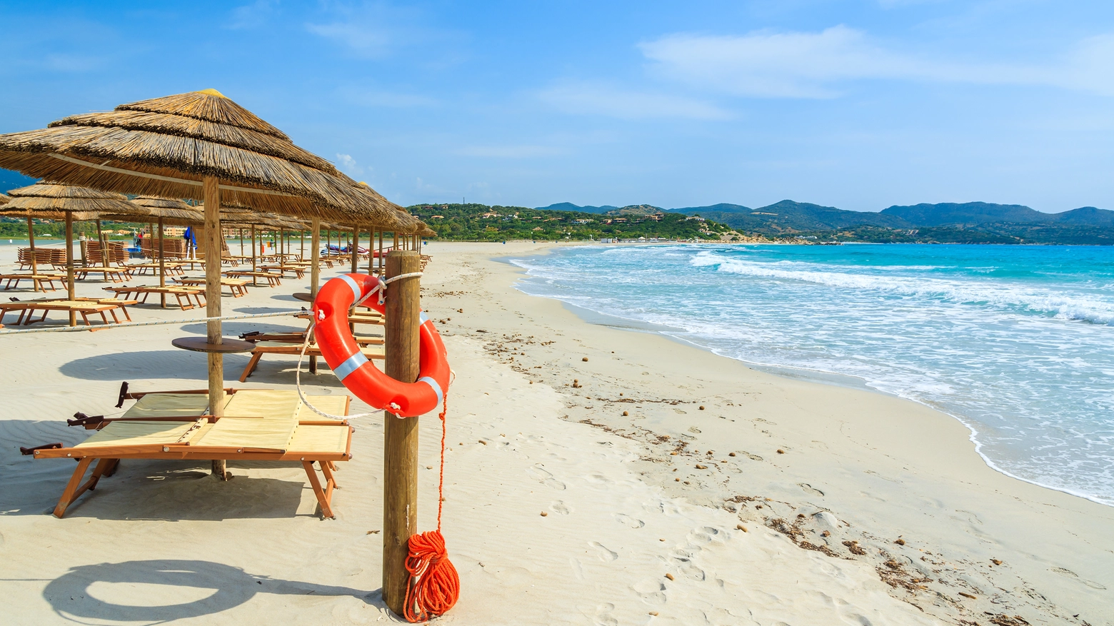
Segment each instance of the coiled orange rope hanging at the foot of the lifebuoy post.
[{"label": "coiled orange rope hanging at the foot of the lifebuoy post", "polygon": [[444,549],[444,537],[441,536],[441,509],[444,502],[444,414],[448,411],[449,398],[446,394],[439,415],[441,476],[437,483],[437,530],[413,535],[407,541],[410,547],[410,555],[407,557],[410,581],[407,584],[407,605],[403,615],[407,622],[426,622],[430,617],[443,615],[460,597],[460,576],[449,561],[448,551]]}]

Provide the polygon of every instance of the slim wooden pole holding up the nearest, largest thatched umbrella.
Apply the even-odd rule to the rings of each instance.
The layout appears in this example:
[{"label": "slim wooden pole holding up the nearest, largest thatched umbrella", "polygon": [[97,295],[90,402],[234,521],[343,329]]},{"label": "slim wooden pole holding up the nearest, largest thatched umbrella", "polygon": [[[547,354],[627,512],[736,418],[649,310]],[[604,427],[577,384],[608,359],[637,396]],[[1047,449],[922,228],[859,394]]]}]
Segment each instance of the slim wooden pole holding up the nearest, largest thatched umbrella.
[{"label": "slim wooden pole holding up the nearest, largest thatched umbrella", "polygon": [[[205,193],[205,312],[209,317],[221,315],[221,182],[206,176]],[[221,320],[205,323],[206,343],[223,343]],[[224,415],[224,355],[209,352],[209,414],[215,419]],[[227,480],[225,462],[213,461],[213,473]]]}]

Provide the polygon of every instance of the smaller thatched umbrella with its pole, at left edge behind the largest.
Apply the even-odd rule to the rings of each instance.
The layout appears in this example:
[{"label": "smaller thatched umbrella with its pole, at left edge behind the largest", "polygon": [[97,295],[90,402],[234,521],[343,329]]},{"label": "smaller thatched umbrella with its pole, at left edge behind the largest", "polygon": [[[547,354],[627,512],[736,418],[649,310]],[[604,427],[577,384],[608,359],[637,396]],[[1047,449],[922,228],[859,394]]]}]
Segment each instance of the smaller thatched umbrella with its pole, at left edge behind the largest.
[{"label": "smaller thatched umbrella with its pole, at left edge behind the largest", "polygon": [[[35,231],[31,219],[65,219],[66,221],[66,283],[70,300],[74,293],[74,222],[99,219],[101,213],[128,214],[134,207],[120,194],[99,192],[88,187],[60,185],[57,183],[36,183],[27,187],[8,192],[11,200],[0,212],[6,215],[27,218],[27,229],[31,238],[31,273],[35,265]],[[70,312],[70,325],[77,325],[77,315]]]}]

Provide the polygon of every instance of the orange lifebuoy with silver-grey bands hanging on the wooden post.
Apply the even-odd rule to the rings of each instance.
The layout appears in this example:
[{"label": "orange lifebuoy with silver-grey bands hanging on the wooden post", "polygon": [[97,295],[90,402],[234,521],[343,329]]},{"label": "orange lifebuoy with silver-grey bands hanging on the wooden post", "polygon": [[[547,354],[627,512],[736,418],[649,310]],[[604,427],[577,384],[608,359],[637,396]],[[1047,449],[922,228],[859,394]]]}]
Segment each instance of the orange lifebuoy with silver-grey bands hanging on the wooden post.
[{"label": "orange lifebuoy with silver-grey bands hanging on the wooden post", "polygon": [[[418,330],[421,358],[416,382],[394,380],[368,361],[349,329],[348,311],[381,281],[367,274],[343,274],[325,283],[313,301],[313,332],[325,362],[360,400],[400,418],[413,418],[439,408],[444,401],[449,390],[448,354],[433,322],[421,313]],[[383,313],[383,305],[375,296],[368,299],[364,305]]]}]

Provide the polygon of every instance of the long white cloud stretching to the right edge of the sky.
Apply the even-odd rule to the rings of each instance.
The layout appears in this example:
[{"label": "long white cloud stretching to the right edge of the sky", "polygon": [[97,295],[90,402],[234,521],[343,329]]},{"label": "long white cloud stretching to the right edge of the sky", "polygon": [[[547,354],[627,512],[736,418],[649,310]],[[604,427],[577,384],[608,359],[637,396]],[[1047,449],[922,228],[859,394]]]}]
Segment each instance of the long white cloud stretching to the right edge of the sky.
[{"label": "long white cloud stretching to the right edge of the sky", "polygon": [[652,72],[737,96],[831,98],[853,80],[890,79],[1052,86],[1114,95],[1114,36],[1082,40],[1044,65],[926,58],[881,46],[860,30],[676,33],[639,45]]}]

